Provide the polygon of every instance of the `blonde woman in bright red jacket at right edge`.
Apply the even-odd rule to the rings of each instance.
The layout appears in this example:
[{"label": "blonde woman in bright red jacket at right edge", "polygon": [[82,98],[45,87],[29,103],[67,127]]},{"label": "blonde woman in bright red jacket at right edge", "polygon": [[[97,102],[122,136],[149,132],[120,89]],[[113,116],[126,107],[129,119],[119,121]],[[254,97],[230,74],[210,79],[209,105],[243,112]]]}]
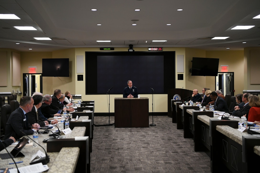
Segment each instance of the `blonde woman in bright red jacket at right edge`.
[{"label": "blonde woman in bright red jacket at right edge", "polygon": [[251,106],[248,113],[248,121],[260,121],[260,98],[256,95],[249,97],[249,106]]}]

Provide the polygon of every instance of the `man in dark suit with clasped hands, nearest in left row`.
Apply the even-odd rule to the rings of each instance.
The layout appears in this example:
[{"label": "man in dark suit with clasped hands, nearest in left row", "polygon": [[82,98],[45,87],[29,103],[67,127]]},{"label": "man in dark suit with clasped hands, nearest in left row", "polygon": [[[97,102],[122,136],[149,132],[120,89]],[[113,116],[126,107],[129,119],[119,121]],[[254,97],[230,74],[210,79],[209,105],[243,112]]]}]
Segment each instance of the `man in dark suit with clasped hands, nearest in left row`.
[{"label": "man in dark suit with clasped hands, nearest in left row", "polygon": [[[25,114],[30,112],[33,108],[34,100],[30,96],[23,96],[20,99],[20,107],[11,113],[5,128],[4,140],[13,136],[15,139],[19,139],[24,134],[32,135],[33,132],[40,128],[40,125],[35,123],[29,128]],[[21,132],[22,131],[22,132]],[[23,134],[24,133],[24,134]]]}]

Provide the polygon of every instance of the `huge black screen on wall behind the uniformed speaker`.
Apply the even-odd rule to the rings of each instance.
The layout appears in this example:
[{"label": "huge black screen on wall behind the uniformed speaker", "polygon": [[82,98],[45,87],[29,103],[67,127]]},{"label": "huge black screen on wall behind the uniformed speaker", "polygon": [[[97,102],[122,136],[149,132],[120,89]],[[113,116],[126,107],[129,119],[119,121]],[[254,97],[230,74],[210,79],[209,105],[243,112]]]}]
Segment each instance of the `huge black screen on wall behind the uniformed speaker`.
[{"label": "huge black screen on wall behind the uniformed speaker", "polygon": [[86,94],[123,94],[131,80],[139,94],[175,87],[175,52],[86,52]]}]

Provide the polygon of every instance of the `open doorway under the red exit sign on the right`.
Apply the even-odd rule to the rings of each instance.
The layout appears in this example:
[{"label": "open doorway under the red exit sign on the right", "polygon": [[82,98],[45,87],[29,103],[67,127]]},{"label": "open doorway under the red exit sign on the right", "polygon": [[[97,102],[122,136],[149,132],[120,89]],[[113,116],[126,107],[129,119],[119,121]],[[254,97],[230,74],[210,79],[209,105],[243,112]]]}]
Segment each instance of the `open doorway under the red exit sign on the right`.
[{"label": "open doorway under the red exit sign on the right", "polygon": [[234,96],[234,72],[222,72],[216,76],[216,90],[222,91],[223,95]]}]

